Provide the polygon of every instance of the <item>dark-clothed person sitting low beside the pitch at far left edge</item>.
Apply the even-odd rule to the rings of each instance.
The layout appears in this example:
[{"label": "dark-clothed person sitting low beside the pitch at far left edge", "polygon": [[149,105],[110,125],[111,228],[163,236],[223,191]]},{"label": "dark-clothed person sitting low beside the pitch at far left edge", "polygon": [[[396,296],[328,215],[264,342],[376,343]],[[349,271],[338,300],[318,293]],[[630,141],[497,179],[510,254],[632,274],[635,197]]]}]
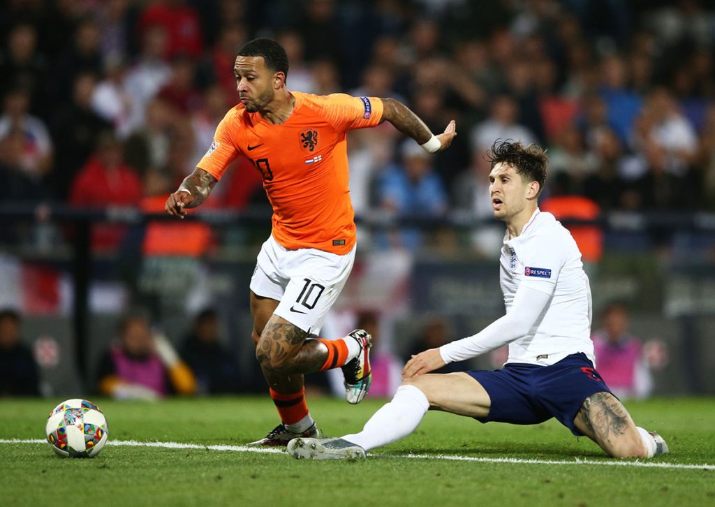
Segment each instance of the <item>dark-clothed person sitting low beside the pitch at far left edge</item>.
[{"label": "dark-clothed person sitting low beside the pitch at far left edge", "polygon": [[0,398],[39,395],[37,363],[20,337],[21,318],[15,310],[0,310]]}]

